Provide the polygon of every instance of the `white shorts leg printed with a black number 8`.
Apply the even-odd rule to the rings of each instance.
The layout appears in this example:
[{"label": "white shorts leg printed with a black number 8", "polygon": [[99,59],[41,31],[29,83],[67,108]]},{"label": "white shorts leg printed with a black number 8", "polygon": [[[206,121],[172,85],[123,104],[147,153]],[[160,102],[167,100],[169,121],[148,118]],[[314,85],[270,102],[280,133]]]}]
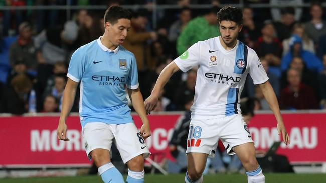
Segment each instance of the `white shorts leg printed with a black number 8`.
[{"label": "white shorts leg printed with a black number 8", "polygon": [[143,159],[150,154],[145,140],[134,123],[118,124],[114,131],[117,149],[123,163],[142,155]]}]

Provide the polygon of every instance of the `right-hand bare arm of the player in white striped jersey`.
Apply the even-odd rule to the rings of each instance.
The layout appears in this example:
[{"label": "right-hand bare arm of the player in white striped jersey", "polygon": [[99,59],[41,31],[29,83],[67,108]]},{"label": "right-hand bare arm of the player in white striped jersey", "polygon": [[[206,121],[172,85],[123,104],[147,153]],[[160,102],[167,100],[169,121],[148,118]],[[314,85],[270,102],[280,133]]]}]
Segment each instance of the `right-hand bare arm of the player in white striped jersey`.
[{"label": "right-hand bare arm of the player in white striped jersey", "polygon": [[272,86],[270,85],[269,81],[266,81],[263,84],[259,84],[259,86],[260,86],[261,90],[263,91],[263,94],[269,104],[269,107],[272,109],[272,111],[276,117],[278,135],[282,134],[284,143],[287,145],[290,143],[290,138],[289,138],[289,135],[286,132],[286,129],[284,126],[283,118],[282,118],[281,112],[279,110],[278,101],[277,101],[275,92],[274,92]]}]

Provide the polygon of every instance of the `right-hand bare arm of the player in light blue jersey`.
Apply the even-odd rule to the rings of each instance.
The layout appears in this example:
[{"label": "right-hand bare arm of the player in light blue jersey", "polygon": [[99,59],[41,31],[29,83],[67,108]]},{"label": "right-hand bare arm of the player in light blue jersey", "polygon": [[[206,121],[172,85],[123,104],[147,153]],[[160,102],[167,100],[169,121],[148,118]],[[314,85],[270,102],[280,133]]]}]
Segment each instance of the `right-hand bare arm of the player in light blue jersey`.
[{"label": "right-hand bare arm of the player in light blue jersey", "polygon": [[149,127],[149,120],[146,115],[144,100],[142,99],[141,92],[139,88],[128,89],[128,94],[132,102],[133,108],[136,110],[143,123],[140,129],[140,134],[144,139],[146,139],[150,136],[150,127]]}]

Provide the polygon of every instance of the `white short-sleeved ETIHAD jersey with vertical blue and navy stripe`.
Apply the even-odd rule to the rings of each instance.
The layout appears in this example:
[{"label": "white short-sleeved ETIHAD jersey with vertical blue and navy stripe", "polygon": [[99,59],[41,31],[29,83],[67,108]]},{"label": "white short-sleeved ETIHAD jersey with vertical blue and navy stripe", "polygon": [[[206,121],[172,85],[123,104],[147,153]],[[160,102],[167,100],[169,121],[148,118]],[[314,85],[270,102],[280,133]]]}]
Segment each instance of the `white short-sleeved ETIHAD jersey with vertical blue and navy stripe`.
[{"label": "white short-sleeved ETIHAD jersey with vertical blue and navy stripe", "polygon": [[226,50],[220,36],[195,43],[174,62],[184,72],[198,66],[192,116],[241,114],[240,94],[247,74],[254,84],[268,80],[254,50],[240,41]]}]

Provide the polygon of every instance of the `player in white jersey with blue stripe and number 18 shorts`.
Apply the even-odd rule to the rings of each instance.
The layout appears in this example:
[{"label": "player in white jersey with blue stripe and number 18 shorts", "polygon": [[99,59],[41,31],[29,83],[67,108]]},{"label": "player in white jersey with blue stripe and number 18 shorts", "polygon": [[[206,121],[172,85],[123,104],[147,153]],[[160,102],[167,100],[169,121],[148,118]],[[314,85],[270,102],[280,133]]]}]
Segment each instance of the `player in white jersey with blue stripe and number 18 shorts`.
[{"label": "player in white jersey with blue stripe and number 18 shorts", "polygon": [[[255,157],[255,147],[241,116],[240,94],[249,73],[258,84],[277,120],[278,134],[285,144],[289,136],[280,114],[277,98],[254,50],[237,40],[242,28],[239,8],[225,6],[218,13],[221,36],[199,41],[170,63],[159,75],[151,95],[145,100],[150,113],[160,90],[179,69],[187,72],[198,66],[194,104],[187,140],[188,171],[185,182],[203,182],[208,156],[221,139],[228,154],[237,154],[246,169],[248,182],[265,182]],[[185,142],[186,143],[186,142]]]}]

